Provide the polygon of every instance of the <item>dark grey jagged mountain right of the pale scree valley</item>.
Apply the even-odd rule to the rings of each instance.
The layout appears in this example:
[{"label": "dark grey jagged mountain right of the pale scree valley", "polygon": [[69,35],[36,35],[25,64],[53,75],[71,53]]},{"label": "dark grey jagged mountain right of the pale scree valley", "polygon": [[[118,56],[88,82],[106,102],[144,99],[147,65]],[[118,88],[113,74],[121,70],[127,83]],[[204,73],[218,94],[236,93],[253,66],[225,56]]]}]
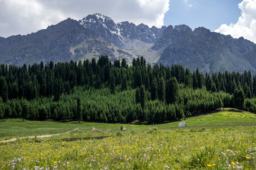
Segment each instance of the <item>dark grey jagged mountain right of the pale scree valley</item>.
[{"label": "dark grey jagged mountain right of the pale scree valley", "polygon": [[157,63],[181,64],[204,72],[243,72],[249,69],[256,73],[256,44],[253,42],[242,37],[234,39],[230,35],[210,32],[203,27],[180,33],[177,32],[178,27],[175,28],[167,27],[152,47],[157,50],[166,46]]}]

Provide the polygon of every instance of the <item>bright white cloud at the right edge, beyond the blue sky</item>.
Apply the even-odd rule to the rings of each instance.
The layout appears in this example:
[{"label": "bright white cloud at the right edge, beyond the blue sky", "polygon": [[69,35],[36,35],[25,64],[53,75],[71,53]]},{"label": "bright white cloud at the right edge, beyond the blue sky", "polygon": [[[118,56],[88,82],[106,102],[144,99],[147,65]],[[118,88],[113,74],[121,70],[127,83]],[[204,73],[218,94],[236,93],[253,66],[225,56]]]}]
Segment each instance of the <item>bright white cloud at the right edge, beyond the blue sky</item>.
[{"label": "bright white cloud at the right edge, beyond the blue sky", "polygon": [[241,17],[238,22],[229,26],[222,24],[215,32],[230,34],[234,38],[243,36],[256,43],[256,0],[243,0],[238,7],[241,9]]}]

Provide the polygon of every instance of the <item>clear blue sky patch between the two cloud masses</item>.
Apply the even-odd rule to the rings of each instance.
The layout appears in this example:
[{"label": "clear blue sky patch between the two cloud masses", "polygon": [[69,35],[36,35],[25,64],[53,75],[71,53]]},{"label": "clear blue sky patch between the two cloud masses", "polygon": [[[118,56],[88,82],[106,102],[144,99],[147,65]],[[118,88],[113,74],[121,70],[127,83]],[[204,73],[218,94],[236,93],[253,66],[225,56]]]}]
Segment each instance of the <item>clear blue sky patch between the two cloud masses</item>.
[{"label": "clear blue sky patch between the two cloud masses", "polygon": [[[210,31],[221,24],[236,23],[241,16],[238,3],[242,0],[170,0],[169,10],[165,13],[165,26],[185,24],[192,30],[199,26]],[[189,7],[192,5],[192,7]]]}]

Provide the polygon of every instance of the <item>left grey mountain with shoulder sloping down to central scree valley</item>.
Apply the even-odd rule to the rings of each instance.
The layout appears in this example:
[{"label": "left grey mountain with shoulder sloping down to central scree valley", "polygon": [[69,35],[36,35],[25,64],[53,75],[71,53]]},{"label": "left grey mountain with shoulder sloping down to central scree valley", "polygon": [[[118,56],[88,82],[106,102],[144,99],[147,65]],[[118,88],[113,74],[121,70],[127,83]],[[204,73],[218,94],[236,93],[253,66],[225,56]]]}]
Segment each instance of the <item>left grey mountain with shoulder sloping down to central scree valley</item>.
[{"label": "left grey mountain with shoulder sloping down to central scree valley", "polygon": [[[87,45],[82,48],[82,51],[76,49],[83,42]],[[1,63],[17,65],[50,60],[58,62],[87,59],[86,56],[97,58],[108,55],[113,58],[112,60],[124,57],[128,61],[136,57],[70,18],[37,33],[10,36],[6,39],[1,37],[0,51]]]}]

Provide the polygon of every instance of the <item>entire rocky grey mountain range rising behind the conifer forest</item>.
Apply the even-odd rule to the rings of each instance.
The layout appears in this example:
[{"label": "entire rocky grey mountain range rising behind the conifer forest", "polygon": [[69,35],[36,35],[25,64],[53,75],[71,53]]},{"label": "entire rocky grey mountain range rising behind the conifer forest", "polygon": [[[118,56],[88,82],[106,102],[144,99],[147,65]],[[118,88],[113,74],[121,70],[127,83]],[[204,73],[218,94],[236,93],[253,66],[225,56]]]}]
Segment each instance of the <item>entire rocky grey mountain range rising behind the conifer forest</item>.
[{"label": "entire rocky grey mountain range rising behind the conifer forest", "polygon": [[145,57],[151,64],[180,64],[191,70],[256,73],[256,44],[199,27],[151,28],[128,21],[115,23],[102,14],[79,21],[67,18],[27,35],[0,37],[0,63],[64,62],[108,55],[111,61]]}]

